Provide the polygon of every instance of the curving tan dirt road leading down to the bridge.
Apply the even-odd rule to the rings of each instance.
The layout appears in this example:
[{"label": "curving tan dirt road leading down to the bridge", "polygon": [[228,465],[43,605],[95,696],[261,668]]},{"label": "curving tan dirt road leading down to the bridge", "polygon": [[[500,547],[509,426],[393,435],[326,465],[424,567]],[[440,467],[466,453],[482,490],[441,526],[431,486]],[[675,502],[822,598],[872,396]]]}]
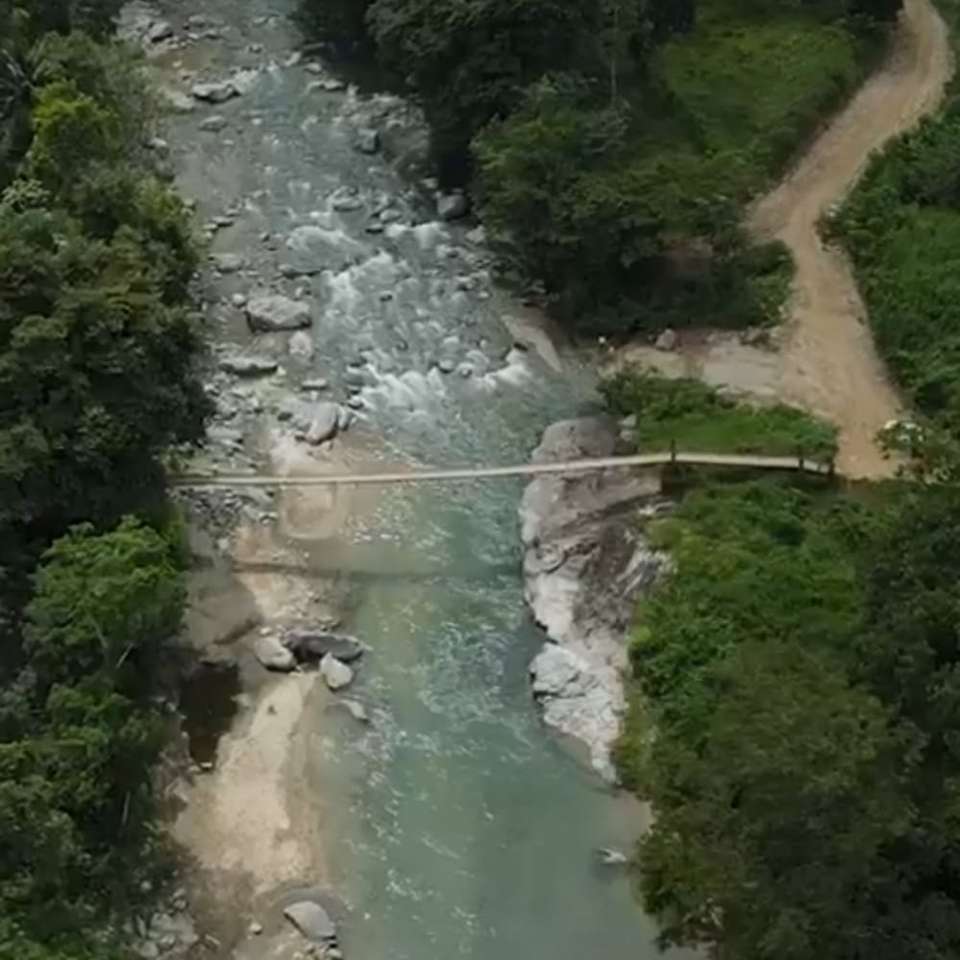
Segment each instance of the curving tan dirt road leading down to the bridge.
[{"label": "curving tan dirt road leading down to the bridge", "polygon": [[796,261],[782,357],[783,399],[840,430],[838,469],[882,477],[895,465],[874,437],[901,403],[877,355],[849,263],[824,246],[817,221],[856,182],[870,154],[934,110],[952,72],[947,27],[930,0],[906,0],[887,62],[749,218]]}]

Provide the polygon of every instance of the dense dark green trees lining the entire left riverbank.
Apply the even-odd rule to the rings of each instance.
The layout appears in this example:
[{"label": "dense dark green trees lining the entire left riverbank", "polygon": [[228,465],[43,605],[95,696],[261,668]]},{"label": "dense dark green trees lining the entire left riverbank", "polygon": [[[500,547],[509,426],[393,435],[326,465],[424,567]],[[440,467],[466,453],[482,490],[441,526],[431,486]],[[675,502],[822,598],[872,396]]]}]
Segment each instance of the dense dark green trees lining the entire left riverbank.
[{"label": "dense dark green trees lining the entire left riverbank", "polygon": [[0,0],[0,956],[119,957],[183,611],[159,459],[201,435],[186,211],[119,3]]}]

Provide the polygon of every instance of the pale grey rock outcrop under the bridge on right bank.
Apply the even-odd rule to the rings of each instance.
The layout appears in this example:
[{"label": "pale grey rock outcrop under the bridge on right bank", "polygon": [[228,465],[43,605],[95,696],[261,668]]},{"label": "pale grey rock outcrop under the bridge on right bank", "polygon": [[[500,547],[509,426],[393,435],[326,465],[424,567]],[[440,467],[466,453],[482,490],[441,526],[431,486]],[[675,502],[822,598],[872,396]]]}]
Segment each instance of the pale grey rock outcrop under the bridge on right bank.
[{"label": "pale grey rock outcrop under the bridge on right bank", "polygon": [[[552,424],[535,463],[613,452],[615,424],[584,418]],[[611,470],[537,477],[520,506],[527,602],[549,642],[530,665],[544,720],[583,741],[594,769],[616,780],[610,748],[624,712],[627,633],[638,597],[667,558],[640,520],[669,508],[656,471]]]}]

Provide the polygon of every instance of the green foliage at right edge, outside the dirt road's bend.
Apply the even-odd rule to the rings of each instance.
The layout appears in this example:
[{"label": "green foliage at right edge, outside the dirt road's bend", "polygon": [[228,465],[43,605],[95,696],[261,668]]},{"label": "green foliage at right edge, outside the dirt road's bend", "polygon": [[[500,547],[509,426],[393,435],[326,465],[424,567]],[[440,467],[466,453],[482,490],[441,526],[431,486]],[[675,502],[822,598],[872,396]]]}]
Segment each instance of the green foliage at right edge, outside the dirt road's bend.
[{"label": "green foliage at right edge, outside the dirt road's bend", "polygon": [[829,225],[919,411],[960,432],[960,98],[891,146]]}]

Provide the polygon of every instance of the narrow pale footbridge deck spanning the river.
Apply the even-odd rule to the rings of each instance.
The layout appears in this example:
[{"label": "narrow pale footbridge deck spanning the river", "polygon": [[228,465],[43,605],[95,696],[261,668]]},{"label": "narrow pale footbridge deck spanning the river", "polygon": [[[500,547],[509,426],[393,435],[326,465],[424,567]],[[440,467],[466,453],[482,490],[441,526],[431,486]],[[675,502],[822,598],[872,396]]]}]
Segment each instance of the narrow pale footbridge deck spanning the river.
[{"label": "narrow pale footbridge deck spanning the river", "polygon": [[685,464],[704,467],[740,467],[751,470],[793,470],[815,476],[832,476],[833,464],[804,457],[762,457],[732,453],[639,453],[620,457],[595,457],[559,463],[524,463],[511,467],[464,467],[454,470],[411,469],[393,473],[353,473],[310,476],[259,474],[182,474],[172,478],[177,487],[336,487],[362,484],[426,483],[431,481],[488,480],[498,477],[536,477],[547,474],[589,473],[628,467]]}]

